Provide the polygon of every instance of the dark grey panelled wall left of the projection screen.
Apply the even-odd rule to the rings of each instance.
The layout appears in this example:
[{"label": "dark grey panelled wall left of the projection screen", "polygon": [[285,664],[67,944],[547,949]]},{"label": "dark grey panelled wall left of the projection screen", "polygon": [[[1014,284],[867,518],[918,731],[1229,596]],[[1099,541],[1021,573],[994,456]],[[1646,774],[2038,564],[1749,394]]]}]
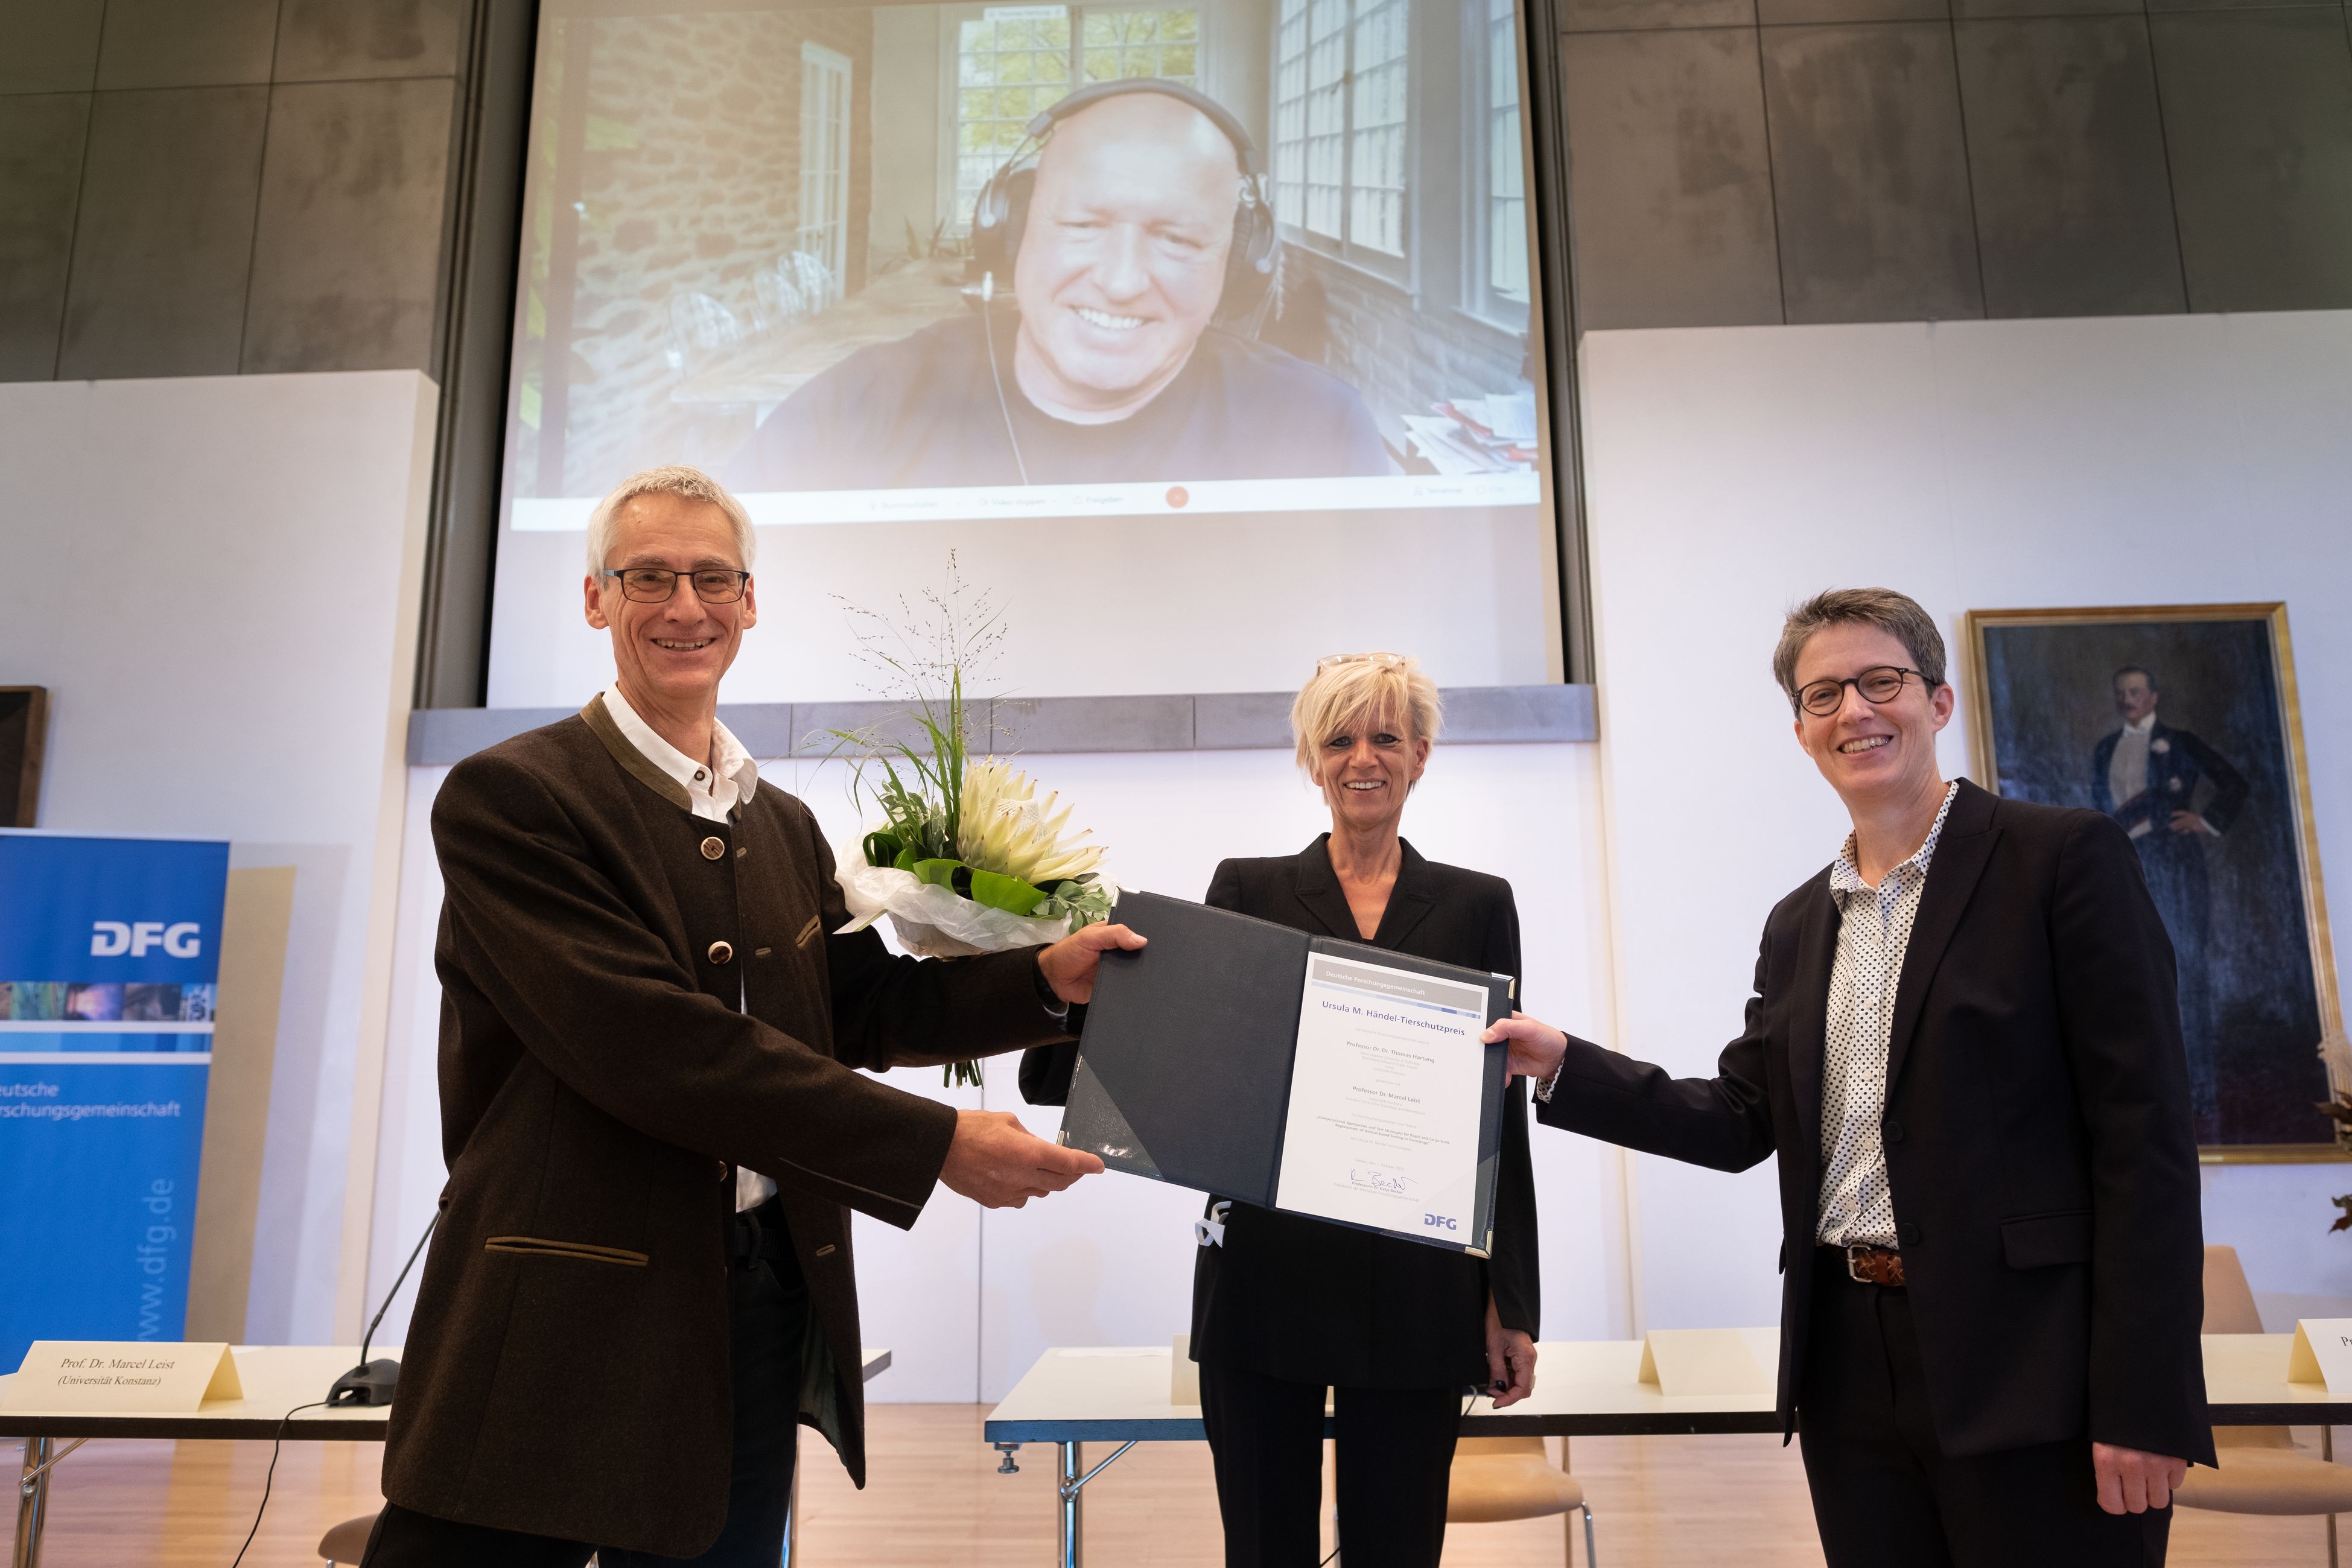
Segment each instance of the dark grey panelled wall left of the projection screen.
[{"label": "dark grey panelled wall left of the projection screen", "polygon": [[426,369],[463,0],[0,0],[0,381]]}]

